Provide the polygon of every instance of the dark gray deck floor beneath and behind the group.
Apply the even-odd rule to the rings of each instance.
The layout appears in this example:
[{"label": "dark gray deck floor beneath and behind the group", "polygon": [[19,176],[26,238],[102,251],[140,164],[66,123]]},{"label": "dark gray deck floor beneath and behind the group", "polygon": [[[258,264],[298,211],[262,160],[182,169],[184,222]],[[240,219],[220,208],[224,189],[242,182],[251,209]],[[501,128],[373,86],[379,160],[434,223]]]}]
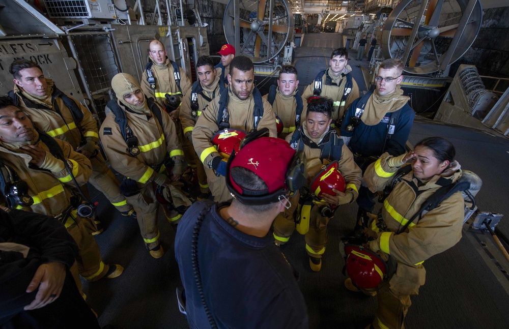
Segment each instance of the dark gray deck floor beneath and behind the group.
[{"label": "dark gray deck floor beneath and behind the group", "polygon": [[[333,34],[325,35],[329,38]],[[316,40],[320,35],[312,37],[309,39]],[[302,90],[327,67],[332,49],[297,48]],[[355,58],[355,52],[349,57]],[[360,85],[360,69],[356,65],[361,63],[349,61],[349,64]],[[409,139],[415,143],[436,135],[453,142],[462,168],[476,172],[483,179],[484,186],[476,197],[479,208],[509,215],[509,175],[506,174],[509,140],[418,117]],[[178,311],[175,293],[181,284],[174,256],[175,231],[160,218],[161,241],[166,253],[160,259],[153,259],[145,249],[136,221],[120,216],[93,188],[91,193],[100,201],[99,214],[105,226],[105,231],[96,236],[104,261],[125,267],[124,274],[117,279],[84,283],[87,301],[100,314],[101,325],[126,329],[187,328],[185,317]],[[282,247],[300,273],[299,286],[305,296],[311,328],[363,328],[374,317],[376,298],[352,293],[343,285],[344,260],[338,251],[339,240],[353,228],[356,212],[355,204],[336,212],[329,224],[329,243],[319,273],[309,268],[303,236],[296,232]],[[507,221],[503,218],[499,228],[509,235]],[[489,234],[465,227],[463,235],[455,247],[426,261],[427,282],[420,294],[412,297],[413,305],[405,320],[407,328],[509,327],[509,279],[503,273],[509,269],[509,263],[500,255]]]}]

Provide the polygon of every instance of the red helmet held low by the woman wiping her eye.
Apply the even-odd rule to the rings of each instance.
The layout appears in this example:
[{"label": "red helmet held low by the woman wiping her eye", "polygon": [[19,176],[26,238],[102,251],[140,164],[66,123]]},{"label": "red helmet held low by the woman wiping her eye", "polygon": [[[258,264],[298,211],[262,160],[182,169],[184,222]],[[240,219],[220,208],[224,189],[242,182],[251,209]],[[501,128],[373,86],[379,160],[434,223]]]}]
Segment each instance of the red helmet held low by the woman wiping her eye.
[{"label": "red helmet held low by the woman wiping her eye", "polygon": [[357,245],[345,245],[347,273],[353,284],[364,290],[375,291],[386,279],[387,264],[373,251]]}]

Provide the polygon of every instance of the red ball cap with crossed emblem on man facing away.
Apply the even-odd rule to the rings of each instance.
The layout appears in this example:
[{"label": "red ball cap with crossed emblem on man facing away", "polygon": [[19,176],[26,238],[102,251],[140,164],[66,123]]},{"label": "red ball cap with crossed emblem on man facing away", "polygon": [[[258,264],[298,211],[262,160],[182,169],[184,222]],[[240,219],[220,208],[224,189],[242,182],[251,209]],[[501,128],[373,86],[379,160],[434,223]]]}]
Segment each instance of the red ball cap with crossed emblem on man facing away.
[{"label": "red ball cap with crossed emblem on man facing away", "polygon": [[[267,194],[272,194],[287,188],[287,170],[295,153],[295,150],[284,139],[261,137],[240,149],[239,153],[235,155],[230,169],[242,167],[256,173],[267,184]],[[230,173],[228,174],[230,175]],[[231,175],[229,178],[237,193],[253,195],[249,191],[242,190],[233,181]]]}]

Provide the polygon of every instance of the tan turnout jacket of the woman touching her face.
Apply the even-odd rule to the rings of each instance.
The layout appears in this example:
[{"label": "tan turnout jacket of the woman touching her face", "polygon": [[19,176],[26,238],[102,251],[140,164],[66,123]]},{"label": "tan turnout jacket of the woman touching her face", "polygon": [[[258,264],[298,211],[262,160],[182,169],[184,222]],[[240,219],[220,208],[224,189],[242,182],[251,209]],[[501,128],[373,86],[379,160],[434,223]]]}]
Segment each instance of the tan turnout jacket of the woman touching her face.
[{"label": "tan turnout jacket of the woman touching her face", "polygon": [[[383,189],[391,183],[394,173],[398,171],[399,168],[387,165],[386,160],[390,157],[384,153],[367,167],[364,181],[371,191]],[[455,165],[458,166],[456,161],[450,167]],[[382,205],[382,218],[388,231],[380,231],[376,219],[370,224],[369,234],[376,238],[381,251],[398,262],[397,273],[390,281],[391,289],[394,286],[395,290],[403,294],[418,293],[419,286],[425,283],[426,278],[422,262],[460,241],[464,216],[461,192],[443,200],[438,207],[424,213],[420,220],[414,220],[404,232],[395,234],[418,212],[430,195],[441,186],[456,182],[462,175],[461,169],[450,171],[435,175],[427,182],[419,182],[410,171],[402,177]]]}]

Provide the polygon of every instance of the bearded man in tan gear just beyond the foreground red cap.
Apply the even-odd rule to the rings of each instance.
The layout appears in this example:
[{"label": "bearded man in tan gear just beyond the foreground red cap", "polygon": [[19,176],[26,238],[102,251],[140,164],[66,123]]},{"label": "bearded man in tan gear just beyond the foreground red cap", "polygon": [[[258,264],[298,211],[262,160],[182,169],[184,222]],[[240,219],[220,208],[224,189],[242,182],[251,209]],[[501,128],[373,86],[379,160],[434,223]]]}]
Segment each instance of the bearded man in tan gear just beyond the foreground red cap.
[{"label": "bearded man in tan gear just beyond the foreground red cap", "polygon": [[238,56],[233,59],[228,82],[228,88],[202,112],[192,132],[194,149],[204,164],[209,188],[216,202],[228,201],[232,197],[224,180],[226,160],[212,145],[212,136],[227,128],[250,132],[266,127],[270,137],[276,137],[274,112],[254,86],[254,65],[249,58]]}]

